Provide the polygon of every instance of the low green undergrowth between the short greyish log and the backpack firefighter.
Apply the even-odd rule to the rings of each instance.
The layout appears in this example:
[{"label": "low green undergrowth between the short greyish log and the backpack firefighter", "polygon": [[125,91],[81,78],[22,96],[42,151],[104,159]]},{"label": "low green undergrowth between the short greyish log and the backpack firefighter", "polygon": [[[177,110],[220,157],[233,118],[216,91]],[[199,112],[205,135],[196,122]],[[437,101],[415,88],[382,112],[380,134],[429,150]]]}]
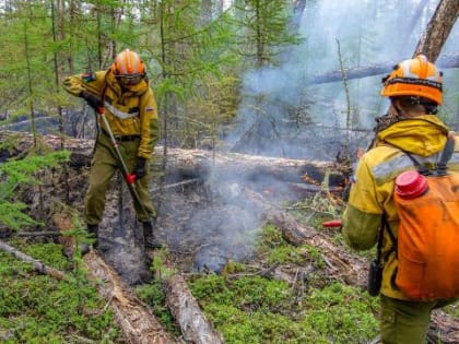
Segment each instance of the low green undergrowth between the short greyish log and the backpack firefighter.
[{"label": "low green undergrowth between the short greyish log and the backpack firefighter", "polygon": [[192,294],[226,343],[366,343],[376,336],[378,299],[323,276],[320,250],[293,247],[267,226],[257,254],[268,265],[309,266],[310,275],[297,280],[306,283],[298,288],[229,262],[222,275],[190,277]]}]

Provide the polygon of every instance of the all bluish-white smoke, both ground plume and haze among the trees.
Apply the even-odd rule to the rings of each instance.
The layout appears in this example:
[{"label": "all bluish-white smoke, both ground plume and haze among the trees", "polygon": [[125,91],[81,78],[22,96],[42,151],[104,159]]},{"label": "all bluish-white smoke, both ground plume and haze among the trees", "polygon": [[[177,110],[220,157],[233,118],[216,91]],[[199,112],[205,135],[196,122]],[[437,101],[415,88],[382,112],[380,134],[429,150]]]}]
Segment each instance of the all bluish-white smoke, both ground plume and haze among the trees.
[{"label": "all bluish-white smoke, both ground plume and haze among the trees", "polygon": [[[244,75],[238,126],[227,138],[228,145],[235,152],[320,161],[334,159],[346,139],[354,149],[366,147],[374,119],[388,107],[387,99],[379,95],[384,75],[349,80],[346,85],[343,81],[314,84],[311,79],[340,72],[341,63],[344,69],[353,69],[411,58],[437,2],[308,2],[299,26],[304,41],[286,48],[279,66]],[[456,27],[444,51],[455,51],[458,40]],[[348,109],[352,128],[361,131],[346,130]],[[260,209],[237,190],[247,186],[278,204],[292,192],[285,182],[270,179],[262,171],[255,179],[244,173],[232,176],[228,185],[220,182],[226,178],[213,178],[208,187],[219,205],[196,212],[190,227],[203,226],[207,237],[212,238],[212,245],[204,246],[196,257],[198,270],[207,266],[220,271],[227,259],[238,260],[250,251],[251,229],[262,216]],[[240,237],[246,238],[244,245],[240,239],[235,241]],[[237,253],[235,247],[245,249]]]}]

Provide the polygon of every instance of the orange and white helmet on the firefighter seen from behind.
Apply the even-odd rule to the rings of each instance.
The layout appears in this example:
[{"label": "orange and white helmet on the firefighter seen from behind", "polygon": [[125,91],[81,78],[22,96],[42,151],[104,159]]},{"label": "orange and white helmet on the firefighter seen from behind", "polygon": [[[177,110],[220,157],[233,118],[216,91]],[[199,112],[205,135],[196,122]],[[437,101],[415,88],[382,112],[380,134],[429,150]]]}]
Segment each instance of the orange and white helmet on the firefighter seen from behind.
[{"label": "orange and white helmet on the firefighter seen from behind", "polygon": [[381,96],[420,96],[442,105],[442,76],[435,64],[428,62],[424,55],[417,55],[415,59],[397,64],[382,79]]}]

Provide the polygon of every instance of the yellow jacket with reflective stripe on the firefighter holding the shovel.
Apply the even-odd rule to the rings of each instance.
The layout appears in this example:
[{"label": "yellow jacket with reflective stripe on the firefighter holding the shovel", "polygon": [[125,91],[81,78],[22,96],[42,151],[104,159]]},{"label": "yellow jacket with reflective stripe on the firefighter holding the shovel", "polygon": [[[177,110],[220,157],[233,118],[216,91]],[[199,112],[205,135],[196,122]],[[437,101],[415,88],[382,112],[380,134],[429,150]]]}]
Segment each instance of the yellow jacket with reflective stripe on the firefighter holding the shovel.
[{"label": "yellow jacket with reflective stripe on the firefighter holding the shovel", "polygon": [[[139,135],[138,156],[152,157],[160,137],[156,102],[146,79],[128,91],[121,91],[111,70],[92,74],[68,76],[63,82],[67,92],[80,96],[87,91],[104,100],[105,116],[115,135]],[[99,121],[99,127],[104,124]]]}]

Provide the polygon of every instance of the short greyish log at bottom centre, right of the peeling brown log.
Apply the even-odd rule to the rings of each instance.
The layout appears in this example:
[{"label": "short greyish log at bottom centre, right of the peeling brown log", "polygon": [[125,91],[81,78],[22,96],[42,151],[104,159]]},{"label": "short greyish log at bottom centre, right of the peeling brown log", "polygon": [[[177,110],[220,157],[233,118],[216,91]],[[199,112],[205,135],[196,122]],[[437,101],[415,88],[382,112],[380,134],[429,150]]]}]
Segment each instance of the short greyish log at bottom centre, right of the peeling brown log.
[{"label": "short greyish log at bottom centre, right of the peeling brown log", "polygon": [[165,280],[167,305],[179,324],[184,339],[195,344],[224,343],[223,337],[208,322],[197,300],[180,274]]}]

